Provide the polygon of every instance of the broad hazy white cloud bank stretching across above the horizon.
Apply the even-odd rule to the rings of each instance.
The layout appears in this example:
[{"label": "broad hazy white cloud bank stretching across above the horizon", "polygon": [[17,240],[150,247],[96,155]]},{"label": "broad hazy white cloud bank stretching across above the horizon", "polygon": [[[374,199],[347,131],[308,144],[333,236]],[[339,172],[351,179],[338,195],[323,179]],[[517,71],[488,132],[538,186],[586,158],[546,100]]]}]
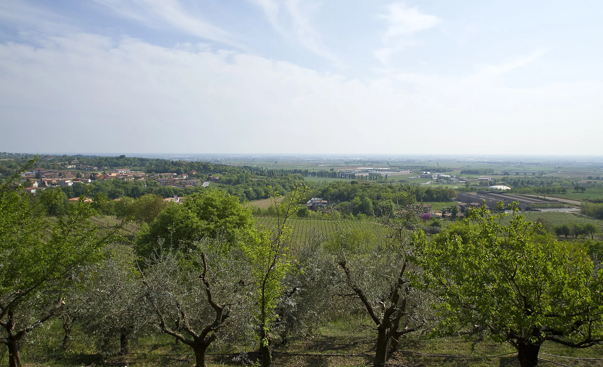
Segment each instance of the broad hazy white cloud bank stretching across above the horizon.
[{"label": "broad hazy white cloud bank stretching across above the horizon", "polygon": [[481,71],[361,81],[72,34],[0,44],[0,85],[7,151],[603,153],[595,81],[519,89]]}]

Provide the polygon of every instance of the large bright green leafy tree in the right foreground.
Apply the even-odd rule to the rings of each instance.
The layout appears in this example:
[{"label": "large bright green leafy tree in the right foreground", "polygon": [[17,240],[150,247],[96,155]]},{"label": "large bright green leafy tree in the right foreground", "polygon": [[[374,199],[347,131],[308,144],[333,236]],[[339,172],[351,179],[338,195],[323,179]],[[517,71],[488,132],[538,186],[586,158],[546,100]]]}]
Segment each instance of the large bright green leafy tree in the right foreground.
[{"label": "large bright green leafy tree in the right foreground", "polygon": [[546,340],[575,348],[602,342],[603,272],[593,277],[584,248],[538,234],[516,208],[508,226],[500,225],[505,215],[471,210],[473,222],[460,224],[464,238],[415,234],[426,284],[442,300],[437,331],[488,331],[517,348],[522,367],[537,365]]}]

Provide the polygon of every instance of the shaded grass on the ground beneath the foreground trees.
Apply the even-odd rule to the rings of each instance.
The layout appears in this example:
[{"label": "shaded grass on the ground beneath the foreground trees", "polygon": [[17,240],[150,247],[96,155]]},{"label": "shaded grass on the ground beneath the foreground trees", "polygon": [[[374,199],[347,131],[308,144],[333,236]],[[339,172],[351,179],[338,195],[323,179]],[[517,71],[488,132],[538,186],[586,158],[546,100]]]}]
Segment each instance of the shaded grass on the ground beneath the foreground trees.
[{"label": "shaded grass on the ground beneath the foreground trees", "polygon": [[[354,301],[356,302],[356,301]],[[351,307],[359,305],[350,305]],[[364,318],[362,314],[350,312],[336,321],[321,326],[314,334],[307,336],[293,336],[286,345],[281,345],[280,340],[275,340],[274,365],[283,367],[301,366],[367,366],[372,362],[374,354],[374,330],[365,327],[370,325],[370,319]],[[44,340],[51,345],[53,339],[60,340],[62,330],[60,322],[55,321],[52,327],[52,338]],[[147,330],[145,330],[147,331]],[[118,335],[106,347],[107,350],[118,348]],[[28,366],[124,366],[136,365],[140,367],[155,366],[191,366],[194,363],[191,348],[180,343],[174,344],[174,339],[156,331],[147,331],[146,336],[132,340],[131,353],[127,356],[101,355],[95,353],[92,345],[86,345],[84,334],[74,330],[73,340],[70,342],[71,352],[62,353],[56,347],[40,347],[35,350],[33,346],[24,348],[24,362]],[[55,343],[56,345],[56,343]],[[250,345],[241,342],[242,351],[253,352]],[[420,366],[446,366],[446,367],[498,367],[505,362],[514,359],[514,354],[507,356],[475,358],[484,356],[495,356],[497,354],[514,353],[514,348],[509,343],[497,343],[485,336],[482,340],[477,338],[466,339],[459,336],[436,337],[429,339],[420,332],[407,334],[400,339],[399,350],[388,360],[388,363],[397,363],[409,367]],[[555,356],[566,356],[575,358],[603,358],[603,347],[585,348],[581,350],[564,347],[552,342],[545,342],[541,347],[541,353],[554,354]],[[223,345],[218,345],[208,350],[212,353],[236,353],[238,350]],[[414,352],[414,353],[410,353]],[[422,353],[422,354],[420,354]],[[297,354],[297,355],[296,355]],[[326,356],[335,354],[339,356]],[[364,356],[350,356],[350,354]],[[426,356],[425,354],[444,354],[449,356],[471,356],[474,358],[453,358]],[[4,354],[5,359],[6,354]],[[249,354],[248,357],[252,357]],[[207,367],[218,366],[241,366],[241,362],[233,360],[235,355],[213,355],[207,360]],[[563,365],[572,367],[603,366],[603,360],[571,360],[558,357],[542,356],[548,360],[554,360]],[[4,361],[3,361],[4,362]],[[543,366],[548,363],[543,363]],[[517,367],[519,363],[511,362],[507,366]]]}]

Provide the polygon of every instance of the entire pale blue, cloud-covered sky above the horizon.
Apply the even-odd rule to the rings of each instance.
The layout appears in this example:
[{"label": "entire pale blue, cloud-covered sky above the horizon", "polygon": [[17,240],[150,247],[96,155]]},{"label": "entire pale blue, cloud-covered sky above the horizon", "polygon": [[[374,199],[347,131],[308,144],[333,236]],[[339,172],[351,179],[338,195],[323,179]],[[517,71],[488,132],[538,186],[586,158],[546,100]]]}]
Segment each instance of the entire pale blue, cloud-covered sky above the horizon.
[{"label": "entire pale blue, cloud-covered sky above the horizon", "polygon": [[603,2],[5,0],[0,151],[603,154]]}]

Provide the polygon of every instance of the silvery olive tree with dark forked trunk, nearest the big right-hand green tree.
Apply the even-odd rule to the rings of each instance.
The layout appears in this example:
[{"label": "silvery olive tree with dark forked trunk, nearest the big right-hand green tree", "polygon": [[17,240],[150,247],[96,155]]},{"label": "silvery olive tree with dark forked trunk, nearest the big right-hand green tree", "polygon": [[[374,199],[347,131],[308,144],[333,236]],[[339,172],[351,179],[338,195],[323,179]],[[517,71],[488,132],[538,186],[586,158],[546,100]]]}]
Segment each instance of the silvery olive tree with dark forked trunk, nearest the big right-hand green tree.
[{"label": "silvery olive tree with dark forked trunk, nearest the big right-hand green tree", "polygon": [[341,295],[350,296],[364,306],[377,333],[374,366],[387,360],[388,344],[394,350],[403,334],[420,330],[425,324],[425,295],[412,286],[418,271],[413,266],[415,247],[407,229],[422,212],[415,201],[415,187],[408,186],[397,198],[398,213],[385,215],[381,222],[390,230],[392,241],[384,247],[364,251],[347,242],[343,236],[335,254],[341,269]]}]

